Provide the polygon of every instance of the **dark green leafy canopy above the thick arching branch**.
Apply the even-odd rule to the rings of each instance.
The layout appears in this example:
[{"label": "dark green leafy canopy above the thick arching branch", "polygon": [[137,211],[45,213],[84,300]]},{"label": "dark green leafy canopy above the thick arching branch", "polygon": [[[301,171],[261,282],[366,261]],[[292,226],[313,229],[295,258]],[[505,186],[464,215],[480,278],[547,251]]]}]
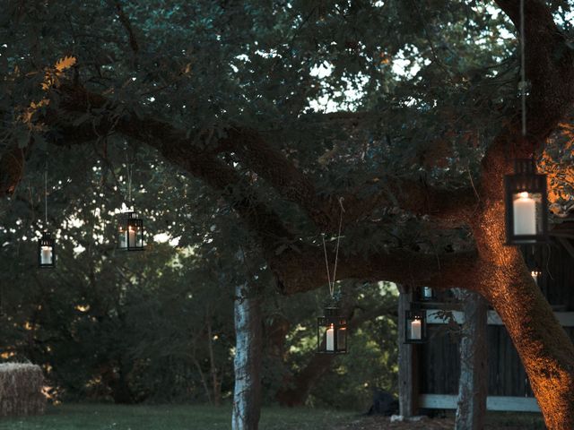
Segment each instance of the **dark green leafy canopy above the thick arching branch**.
[{"label": "dark green leafy canopy above the thick arching branch", "polygon": [[[129,108],[140,118],[167,121],[193,137],[191,144],[200,144],[198,132],[218,137],[234,125],[257,129],[329,195],[361,185],[361,197],[369,198],[384,190],[387,176],[469,185],[501,118],[514,108],[514,28],[492,2],[119,4],[127,21],[103,0],[6,2],[0,145],[27,147],[31,137],[40,144],[30,150],[37,151],[57,139],[57,127],[48,130],[38,119],[30,129],[22,115],[47,97],[58,106],[57,91],[41,84],[47,68],[70,57],[77,62],[66,76],[120,102],[114,115]],[[552,2],[552,10],[571,31],[569,3]],[[326,106],[348,112],[326,116]],[[107,109],[78,116],[74,125],[98,125]],[[102,142],[96,146],[106,155]],[[252,175],[233,164],[233,154],[226,157],[241,175]],[[264,181],[252,185],[301,240],[317,237],[305,213],[277,199]],[[157,197],[157,205],[170,202],[164,193]],[[439,250],[454,240],[429,235],[421,219],[397,222],[382,208],[371,216],[388,228],[365,224],[348,232],[345,252]]]}]

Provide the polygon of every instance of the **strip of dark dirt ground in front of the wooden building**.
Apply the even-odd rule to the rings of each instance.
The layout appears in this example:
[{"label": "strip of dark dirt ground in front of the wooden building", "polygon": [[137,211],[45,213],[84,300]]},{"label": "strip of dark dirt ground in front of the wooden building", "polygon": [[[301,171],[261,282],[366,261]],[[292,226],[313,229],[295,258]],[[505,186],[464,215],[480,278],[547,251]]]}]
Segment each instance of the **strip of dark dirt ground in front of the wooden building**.
[{"label": "strip of dark dirt ground in front of the wooden building", "polygon": [[[506,419],[495,420],[496,423],[490,423],[484,426],[484,430],[541,430],[539,420]],[[516,421],[520,421],[516,423]],[[447,418],[429,418],[423,417],[421,421],[404,421],[390,422],[389,417],[361,417],[352,421],[345,426],[337,427],[335,430],[452,430],[455,428],[455,420],[452,417]]]}]

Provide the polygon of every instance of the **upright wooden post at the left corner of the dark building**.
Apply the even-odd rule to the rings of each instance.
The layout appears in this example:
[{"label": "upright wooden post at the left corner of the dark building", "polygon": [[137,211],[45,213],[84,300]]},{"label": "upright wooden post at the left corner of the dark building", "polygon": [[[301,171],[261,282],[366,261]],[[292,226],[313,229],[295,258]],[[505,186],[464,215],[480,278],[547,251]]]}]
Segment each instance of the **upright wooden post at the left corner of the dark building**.
[{"label": "upright wooden post at the left corner of the dark building", "polygon": [[404,311],[411,305],[411,294],[403,286],[397,286],[398,297],[398,408],[403,417],[413,417],[418,411],[418,369],[416,346],[404,343]]}]

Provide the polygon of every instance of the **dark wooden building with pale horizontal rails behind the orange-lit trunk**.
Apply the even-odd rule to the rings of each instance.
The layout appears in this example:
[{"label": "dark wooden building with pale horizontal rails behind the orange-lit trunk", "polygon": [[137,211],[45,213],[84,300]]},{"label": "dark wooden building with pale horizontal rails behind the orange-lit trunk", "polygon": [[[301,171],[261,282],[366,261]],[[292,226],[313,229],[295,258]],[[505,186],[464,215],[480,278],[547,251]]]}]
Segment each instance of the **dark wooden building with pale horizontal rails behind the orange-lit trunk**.
[{"label": "dark wooden building with pale horizontal rails behind the orange-lit trunk", "polygon": [[[574,220],[552,229],[552,244],[525,247],[526,263],[537,278],[554,314],[574,340]],[[401,294],[399,315],[404,315],[412,293]],[[452,325],[439,317],[450,310],[457,323],[464,322],[460,304],[449,291],[423,304],[427,313],[429,340],[404,344],[404,317],[399,318],[399,403],[401,414],[417,415],[419,409],[456,409],[460,374],[459,340]],[[455,324],[455,327],[457,324]],[[495,311],[488,312],[487,409],[539,411],[524,367]]]}]

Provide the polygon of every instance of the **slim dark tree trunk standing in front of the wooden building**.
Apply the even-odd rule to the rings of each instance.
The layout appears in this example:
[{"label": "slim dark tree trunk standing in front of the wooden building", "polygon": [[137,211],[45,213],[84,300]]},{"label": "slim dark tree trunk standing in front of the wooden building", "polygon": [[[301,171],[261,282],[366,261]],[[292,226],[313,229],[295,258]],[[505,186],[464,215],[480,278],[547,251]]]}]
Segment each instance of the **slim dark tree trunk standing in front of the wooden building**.
[{"label": "slim dark tree trunk standing in front of the wooden building", "polygon": [[487,312],[488,305],[479,294],[462,290],[465,324],[460,341],[460,378],[456,430],[483,430],[488,391]]}]

